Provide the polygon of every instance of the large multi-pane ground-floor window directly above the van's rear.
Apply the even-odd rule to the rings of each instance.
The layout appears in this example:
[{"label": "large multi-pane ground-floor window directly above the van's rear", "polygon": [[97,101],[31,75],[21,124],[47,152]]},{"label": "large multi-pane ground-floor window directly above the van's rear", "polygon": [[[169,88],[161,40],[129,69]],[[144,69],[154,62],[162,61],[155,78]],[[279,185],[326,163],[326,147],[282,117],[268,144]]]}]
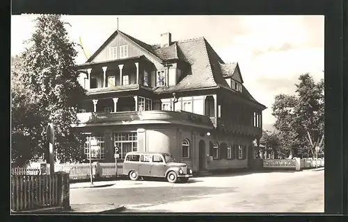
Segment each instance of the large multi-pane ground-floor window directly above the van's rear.
[{"label": "large multi-pane ground-floor window directly above the van's rear", "polygon": [[138,151],[138,134],[136,132],[115,133],[114,146],[118,147],[120,159],[125,159],[125,155],[131,151]]}]

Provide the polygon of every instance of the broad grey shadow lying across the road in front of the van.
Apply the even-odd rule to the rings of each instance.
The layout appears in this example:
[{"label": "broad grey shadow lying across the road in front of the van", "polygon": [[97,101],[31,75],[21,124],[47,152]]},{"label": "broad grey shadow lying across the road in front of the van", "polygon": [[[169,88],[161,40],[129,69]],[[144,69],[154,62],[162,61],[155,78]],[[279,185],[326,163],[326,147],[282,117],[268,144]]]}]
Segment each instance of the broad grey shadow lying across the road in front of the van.
[{"label": "broad grey shadow lying across the road in front of the van", "polygon": [[[150,207],[182,200],[236,192],[236,187],[132,187],[122,189],[74,189],[70,203],[115,203],[130,208]],[[144,206],[145,205],[145,206]]]}]

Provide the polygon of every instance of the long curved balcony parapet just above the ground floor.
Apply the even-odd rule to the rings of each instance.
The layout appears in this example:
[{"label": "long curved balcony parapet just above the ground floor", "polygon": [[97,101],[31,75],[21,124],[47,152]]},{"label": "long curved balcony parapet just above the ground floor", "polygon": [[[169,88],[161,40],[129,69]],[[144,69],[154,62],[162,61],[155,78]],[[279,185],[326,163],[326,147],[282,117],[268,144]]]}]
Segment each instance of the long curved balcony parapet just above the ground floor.
[{"label": "long curved balcony parapet just above the ground floor", "polygon": [[79,124],[74,127],[143,125],[143,124],[180,124],[212,130],[209,117],[191,112],[173,112],[163,110],[129,111],[129,112],[84,112],[78,113]]}]

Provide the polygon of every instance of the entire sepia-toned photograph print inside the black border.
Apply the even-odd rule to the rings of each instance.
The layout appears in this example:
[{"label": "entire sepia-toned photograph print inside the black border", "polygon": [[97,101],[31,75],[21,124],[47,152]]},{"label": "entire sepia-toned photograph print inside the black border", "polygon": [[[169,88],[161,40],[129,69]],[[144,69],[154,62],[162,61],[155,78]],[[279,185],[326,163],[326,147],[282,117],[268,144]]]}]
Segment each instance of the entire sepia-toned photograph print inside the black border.
[{"label": "entire sepia-toned photograph print inside the black border", "polygon": [[323,15],[10,19],[11,213],[324,212]]}]

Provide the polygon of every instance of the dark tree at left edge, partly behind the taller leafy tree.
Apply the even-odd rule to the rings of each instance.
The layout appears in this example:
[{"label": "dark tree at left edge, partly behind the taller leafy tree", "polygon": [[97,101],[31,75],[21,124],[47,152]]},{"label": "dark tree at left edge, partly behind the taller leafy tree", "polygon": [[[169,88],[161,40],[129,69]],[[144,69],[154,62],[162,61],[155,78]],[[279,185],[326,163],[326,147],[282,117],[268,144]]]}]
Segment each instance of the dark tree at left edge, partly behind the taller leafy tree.
[{"label": "dark tree at left edge, partly behind the taller leafy tree", "polygon": [[40,151],[40,137],[44,117],[38,110],[38,101],[33,92],[23,85],[23,76],[19,71],[21,60],[13,58],[11,67],[11,159],[23,166]]}]

